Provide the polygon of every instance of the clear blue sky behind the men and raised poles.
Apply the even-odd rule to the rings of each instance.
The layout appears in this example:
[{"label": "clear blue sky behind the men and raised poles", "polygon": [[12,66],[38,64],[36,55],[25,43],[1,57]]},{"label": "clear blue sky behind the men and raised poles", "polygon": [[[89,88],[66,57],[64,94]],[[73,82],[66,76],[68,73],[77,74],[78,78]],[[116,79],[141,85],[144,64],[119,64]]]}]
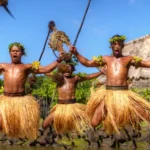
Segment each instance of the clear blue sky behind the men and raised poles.
[{"label": "clear blue sky behind the men and raised poles", "polygon": [[[66,32],[73,43],[88,0],[9,0],[11,18],[0,7],[0,62],[10,62],[8,45],[21,42],[27,55],[24,63],[39,59],[48,31],[48,22],[54,20],[57,28]],[[114,34],[126,35],[127,41],[150,33],[150,0],[91,0],[76,47],[82,55],[109,55],[109,38]],[[56,60],[46,46],[41,65]],[[81,65],[77,72],[96,72]]]}]

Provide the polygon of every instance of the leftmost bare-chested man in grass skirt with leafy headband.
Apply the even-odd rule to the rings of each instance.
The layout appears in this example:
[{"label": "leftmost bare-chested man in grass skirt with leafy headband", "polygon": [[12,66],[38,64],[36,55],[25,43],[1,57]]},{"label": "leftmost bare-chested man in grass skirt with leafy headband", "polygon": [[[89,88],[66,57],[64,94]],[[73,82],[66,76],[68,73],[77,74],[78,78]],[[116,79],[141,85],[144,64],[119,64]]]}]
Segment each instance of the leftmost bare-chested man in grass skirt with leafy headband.
[{"label": "leftmost bare-chested man in grass skirt with leafy headband", "polygon": [[35,139],[39,127],[39,105],[31,95],[25,94],[25,82],[30,73],[52,71],[61,60],[48,66],[38,62],[23,64],[24,46],[12,43],[9,46],[11,63],[1,63],[0,72],[4,75],[4,95],[0,96],[0,129],[11,137]]}]

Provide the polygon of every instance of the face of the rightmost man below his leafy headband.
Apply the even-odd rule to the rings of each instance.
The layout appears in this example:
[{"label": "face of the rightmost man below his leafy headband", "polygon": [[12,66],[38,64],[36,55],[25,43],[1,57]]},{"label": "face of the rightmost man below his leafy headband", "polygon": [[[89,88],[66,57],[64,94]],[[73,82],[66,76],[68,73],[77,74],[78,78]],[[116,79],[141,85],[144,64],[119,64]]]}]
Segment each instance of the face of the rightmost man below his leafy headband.
[{"label": "face of the rightmost man below his leafy headband", "polygon": [[124,47],[124,44],[122,41],[115,41],[111,43],[111,48],[112,48],[114,56],[120,56],[122,54],[123,47]]}]

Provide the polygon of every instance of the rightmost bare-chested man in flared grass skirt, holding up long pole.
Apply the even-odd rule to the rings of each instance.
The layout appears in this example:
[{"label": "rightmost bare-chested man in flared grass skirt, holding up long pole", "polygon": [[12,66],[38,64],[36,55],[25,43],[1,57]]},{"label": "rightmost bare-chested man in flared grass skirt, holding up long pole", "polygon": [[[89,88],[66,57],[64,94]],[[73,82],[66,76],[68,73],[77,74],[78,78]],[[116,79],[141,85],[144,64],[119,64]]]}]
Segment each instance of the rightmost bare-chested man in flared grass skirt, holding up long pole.
[{"label": "rightmost bare-chested man in flared grass skirt, holding up long pole", "polygon": [[150,67],[150,61],[133,56],[123,56],[125,36],[115,35],[110,39],[112,56],[93,57],[88,60],[81,56],[75,47],[70,51],[79,62],[87,67],[107,67],[106,89],[97,90],[87,104],[87,113],[91,117],[92,126],[98,126],[102,120],[108,133],[125,125],[137,127],[140,121],[150,122],[150,103],[128,90],[127,76],[131,65]]}]

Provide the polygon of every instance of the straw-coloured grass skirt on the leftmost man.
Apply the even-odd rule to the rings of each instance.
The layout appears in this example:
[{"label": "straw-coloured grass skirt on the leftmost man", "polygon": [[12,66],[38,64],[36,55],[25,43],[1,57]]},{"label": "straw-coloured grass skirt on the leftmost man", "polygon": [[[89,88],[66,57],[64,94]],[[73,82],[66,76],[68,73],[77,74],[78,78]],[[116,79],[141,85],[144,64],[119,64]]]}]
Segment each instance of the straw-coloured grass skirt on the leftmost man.
[{"label": "straw-coloured grass skirt on the leftmost man", "polygon": [[3,133],[15,138],[37,138],[40,110],[33,96],[1,95],[0,112]]}]

